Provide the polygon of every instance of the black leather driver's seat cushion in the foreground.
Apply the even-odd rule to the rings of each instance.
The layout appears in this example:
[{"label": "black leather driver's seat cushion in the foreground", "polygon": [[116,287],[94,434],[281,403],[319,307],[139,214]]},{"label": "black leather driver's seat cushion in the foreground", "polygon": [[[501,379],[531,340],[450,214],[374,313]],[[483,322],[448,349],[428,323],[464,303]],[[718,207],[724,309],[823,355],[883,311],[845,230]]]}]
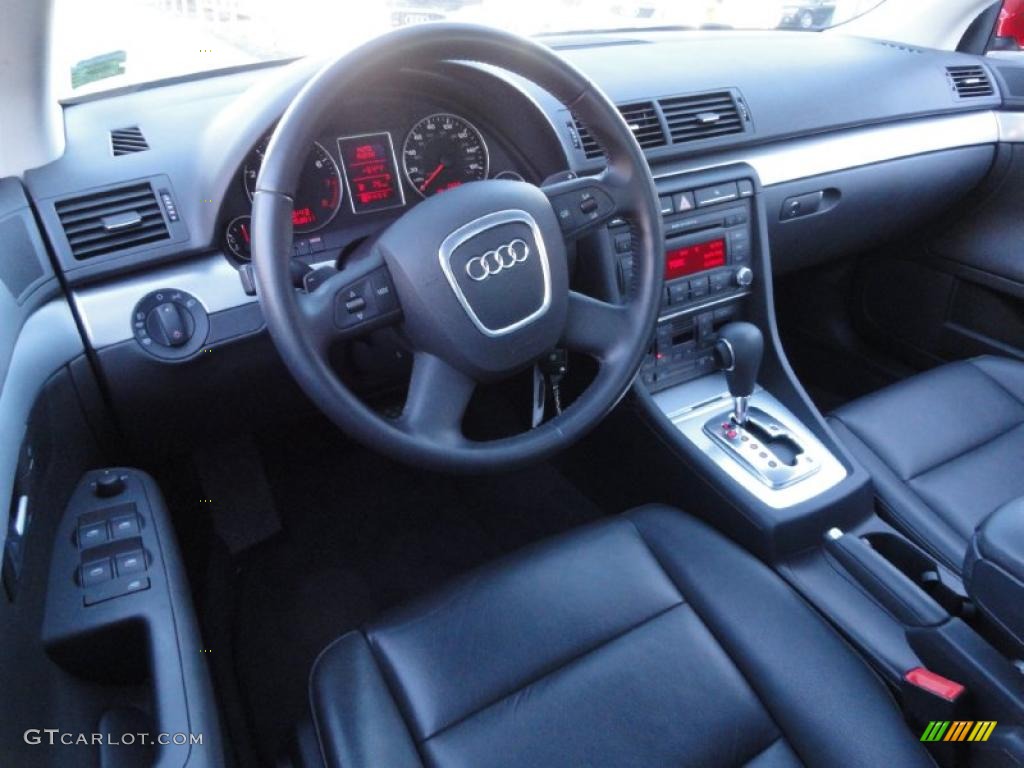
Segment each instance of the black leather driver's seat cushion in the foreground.
[{"label": "black leather driver's seat cushion in the foreground", "polygon": [[327,764],[924,766],[885,686],[774,572],[647,507],[329,646]]}]

